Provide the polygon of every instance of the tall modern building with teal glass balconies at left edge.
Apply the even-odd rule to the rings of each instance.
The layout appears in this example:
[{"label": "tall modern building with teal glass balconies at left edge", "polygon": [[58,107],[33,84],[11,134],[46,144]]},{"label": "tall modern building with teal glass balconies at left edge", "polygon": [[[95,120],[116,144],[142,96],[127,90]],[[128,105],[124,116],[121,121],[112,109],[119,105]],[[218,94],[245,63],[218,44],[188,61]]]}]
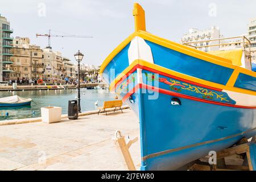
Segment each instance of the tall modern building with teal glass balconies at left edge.
[{"label": "tall modern building with teal glass balconies at left edge", "polygon": [[0,81],[9,81],[12,72],[10,65],[13,64],[10,57],[13,37],[10,35],[13,30],[10,28],[10,22],[0,15]]}]

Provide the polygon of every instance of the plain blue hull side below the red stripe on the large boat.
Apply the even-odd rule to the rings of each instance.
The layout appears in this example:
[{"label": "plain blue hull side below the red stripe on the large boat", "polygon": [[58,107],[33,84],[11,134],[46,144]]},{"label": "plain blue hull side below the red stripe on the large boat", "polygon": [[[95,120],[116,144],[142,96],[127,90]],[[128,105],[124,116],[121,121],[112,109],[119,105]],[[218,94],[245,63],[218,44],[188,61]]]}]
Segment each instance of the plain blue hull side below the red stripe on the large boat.
[{"label": "plain blue hull side below the red stripe on the large boat", "polygon": [[138,92],[143,93],[139,98],[143,170],[174,170],[256,135],[254,109],[179,97],[181,105],[170,105],[172,96],[159,94],[158,100],[148,100],[147,90]]}]

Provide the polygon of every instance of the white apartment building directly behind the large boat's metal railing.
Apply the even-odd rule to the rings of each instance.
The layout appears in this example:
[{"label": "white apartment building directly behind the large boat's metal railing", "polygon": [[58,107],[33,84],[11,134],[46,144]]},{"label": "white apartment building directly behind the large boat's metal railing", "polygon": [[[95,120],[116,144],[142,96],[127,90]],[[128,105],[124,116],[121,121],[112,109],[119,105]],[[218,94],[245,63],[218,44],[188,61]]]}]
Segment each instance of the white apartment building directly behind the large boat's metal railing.
[{"label": "white apartment building directly behind the large boat's metal railing", "polygon": [[216,51],[218,50],[218,46],[212,47],[204,47],[208,45],[219,44],[220,40],[212,41],[212,42],[205,42],[205,40],[210,39],[219,39],[223,36],[220,35],[220,28],[216,26],[212,26],[206,30],[199,30],[198,28],[191,28],[187,33],[183,35],[181,38],[182,44],[190,44],[191,46],[197,47],[197,49],[201,51]]}]

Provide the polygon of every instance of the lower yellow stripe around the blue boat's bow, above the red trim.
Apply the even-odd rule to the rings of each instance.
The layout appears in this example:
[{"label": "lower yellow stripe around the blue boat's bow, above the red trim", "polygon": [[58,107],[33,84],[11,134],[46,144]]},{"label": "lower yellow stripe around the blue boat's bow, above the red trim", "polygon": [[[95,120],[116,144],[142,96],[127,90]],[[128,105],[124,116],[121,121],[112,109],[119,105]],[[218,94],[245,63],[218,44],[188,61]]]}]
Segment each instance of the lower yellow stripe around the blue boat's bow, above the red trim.
[{"label": "lower yellow stripe around the blue boat's bow, above the red trim", "polygon": [[[110,84],[110,88],[109,89],[112,90],[113,87],[115,86],[115,84],[119,80],[121,80],[121,78],[124,75],[126,75],[137,64],[143,65],[143,66],[148,67],[148,68],[156,69],[156,70],[158,70],[160,72],[164,72],[164,73],[167,73],[169,75],[174,75],[174,76],[183,78],[185,80],[189,80],[189,81],[197,82],[199,84],[210,86],[210,87],[213,87],[213,88],[222,89],[222,90],[229,90],[229,91],[232,91],[232,92],[239,92],[239,93],[245,93],[245,94],[250,94],[250,95],[256,96],[256,92],[254,92],[252,90],[235,88],[233,86],[221,85],[221,84],[217,84],[215,82],[211,82],[211,81],[207,81],[207,80],[202,80],[200,78],[196,78],[196,77],[192,77],[192,76],[189,76],[189,75],[185,75],[185,74],[180,73],[180,72],[172,71],[171,69],[167,69],[167,68],[161,67],[161,66],[156,65],[156,64],[148,63],[147,61],[144,61],[144,60],[135,60],[131,65],[129,65],[129,67],[127,67],[120,75],[118,75],[115,78],[115,80]],[[237,67],[236,72],[239,73],[240,72],[240,68],[241,67]]]}]

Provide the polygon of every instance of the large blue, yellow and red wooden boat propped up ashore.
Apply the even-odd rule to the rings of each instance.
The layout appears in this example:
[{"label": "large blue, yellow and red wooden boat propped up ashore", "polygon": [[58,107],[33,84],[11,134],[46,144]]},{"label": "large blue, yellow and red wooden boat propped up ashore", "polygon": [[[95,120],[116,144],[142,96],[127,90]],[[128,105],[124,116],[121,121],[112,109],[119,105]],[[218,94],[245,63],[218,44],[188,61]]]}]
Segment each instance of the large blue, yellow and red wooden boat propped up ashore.
[{"label": "large blue, yellow and red wooden boat propped up ashore", "polygon": [[255,72],[146,32],[137,3],[133,14],[135,32],[100,73],[138,115],[142,170],[179,169],[256,135]]}]

